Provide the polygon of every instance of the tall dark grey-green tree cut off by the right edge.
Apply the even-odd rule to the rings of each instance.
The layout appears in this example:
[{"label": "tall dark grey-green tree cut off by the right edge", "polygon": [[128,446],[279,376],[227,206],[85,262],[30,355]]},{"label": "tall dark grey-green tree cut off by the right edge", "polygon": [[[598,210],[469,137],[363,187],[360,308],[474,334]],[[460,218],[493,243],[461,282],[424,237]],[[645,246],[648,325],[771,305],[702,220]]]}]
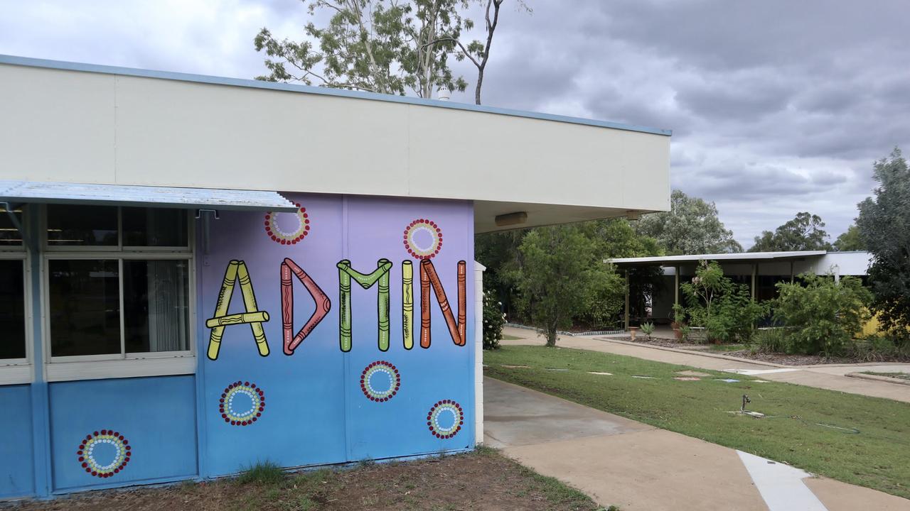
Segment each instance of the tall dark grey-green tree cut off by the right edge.
[{"label": "tall dark grey-green tree cut off by the right edge", "polygon": [[875,162],[875,197],[859,204],[856,226],[872,253],[872,306],[883,329],[910,327],[910,170],[895,147]]}]

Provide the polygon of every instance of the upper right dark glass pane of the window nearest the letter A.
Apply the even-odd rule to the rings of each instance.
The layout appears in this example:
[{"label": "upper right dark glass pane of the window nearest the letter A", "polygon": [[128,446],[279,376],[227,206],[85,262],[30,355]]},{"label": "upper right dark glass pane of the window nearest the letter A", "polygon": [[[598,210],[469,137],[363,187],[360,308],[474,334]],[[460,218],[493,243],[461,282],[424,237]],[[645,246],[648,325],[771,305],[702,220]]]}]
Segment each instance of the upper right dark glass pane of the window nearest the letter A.
[{"label": "upper right dark glass pane of the window nearest the letter A", "polygon": [[126,246],[187,246],[187,239],[186,209],[123,208]]}]

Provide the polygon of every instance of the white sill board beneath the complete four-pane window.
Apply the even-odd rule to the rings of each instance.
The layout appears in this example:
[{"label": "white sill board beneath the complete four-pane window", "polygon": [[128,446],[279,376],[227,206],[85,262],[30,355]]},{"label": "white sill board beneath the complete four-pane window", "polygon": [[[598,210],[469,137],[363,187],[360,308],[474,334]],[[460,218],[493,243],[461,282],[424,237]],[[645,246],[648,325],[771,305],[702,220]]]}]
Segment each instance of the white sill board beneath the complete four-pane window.
[{"label": "white sill board beneath the complete four-pane window", "polygon": [[48,382],[64,382],[142,376],[194,375],[196,374],[196,364],[196,356],[52,362],[45,365],[45,379]]}]

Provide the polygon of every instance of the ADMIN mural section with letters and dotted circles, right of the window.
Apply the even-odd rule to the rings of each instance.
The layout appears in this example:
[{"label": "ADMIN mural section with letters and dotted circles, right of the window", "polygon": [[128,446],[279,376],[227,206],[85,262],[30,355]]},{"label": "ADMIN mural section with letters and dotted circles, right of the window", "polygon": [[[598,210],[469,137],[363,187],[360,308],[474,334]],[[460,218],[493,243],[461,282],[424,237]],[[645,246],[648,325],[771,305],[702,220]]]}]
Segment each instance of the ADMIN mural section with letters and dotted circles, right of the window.
[{"label": "ADMIN mural section with letters and dotted circles, right of the window", "polygon": [[297,213],[211,225],[199,267],[207,469],[472,447],[470,203],[287,196]]}]

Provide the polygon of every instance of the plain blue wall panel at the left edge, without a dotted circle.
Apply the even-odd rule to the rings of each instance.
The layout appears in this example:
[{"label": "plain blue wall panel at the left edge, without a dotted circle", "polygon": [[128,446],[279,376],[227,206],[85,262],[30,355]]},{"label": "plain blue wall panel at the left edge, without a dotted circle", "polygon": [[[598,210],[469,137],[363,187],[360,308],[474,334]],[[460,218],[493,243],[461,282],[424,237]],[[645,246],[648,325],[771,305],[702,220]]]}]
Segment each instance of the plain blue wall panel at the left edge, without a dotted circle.
[{"label": "plain blue wall panel at the left edge, without a dotted circle", "polygon": [[35,493],[32,397],[28,386],[0,386],[0,498]]}]

